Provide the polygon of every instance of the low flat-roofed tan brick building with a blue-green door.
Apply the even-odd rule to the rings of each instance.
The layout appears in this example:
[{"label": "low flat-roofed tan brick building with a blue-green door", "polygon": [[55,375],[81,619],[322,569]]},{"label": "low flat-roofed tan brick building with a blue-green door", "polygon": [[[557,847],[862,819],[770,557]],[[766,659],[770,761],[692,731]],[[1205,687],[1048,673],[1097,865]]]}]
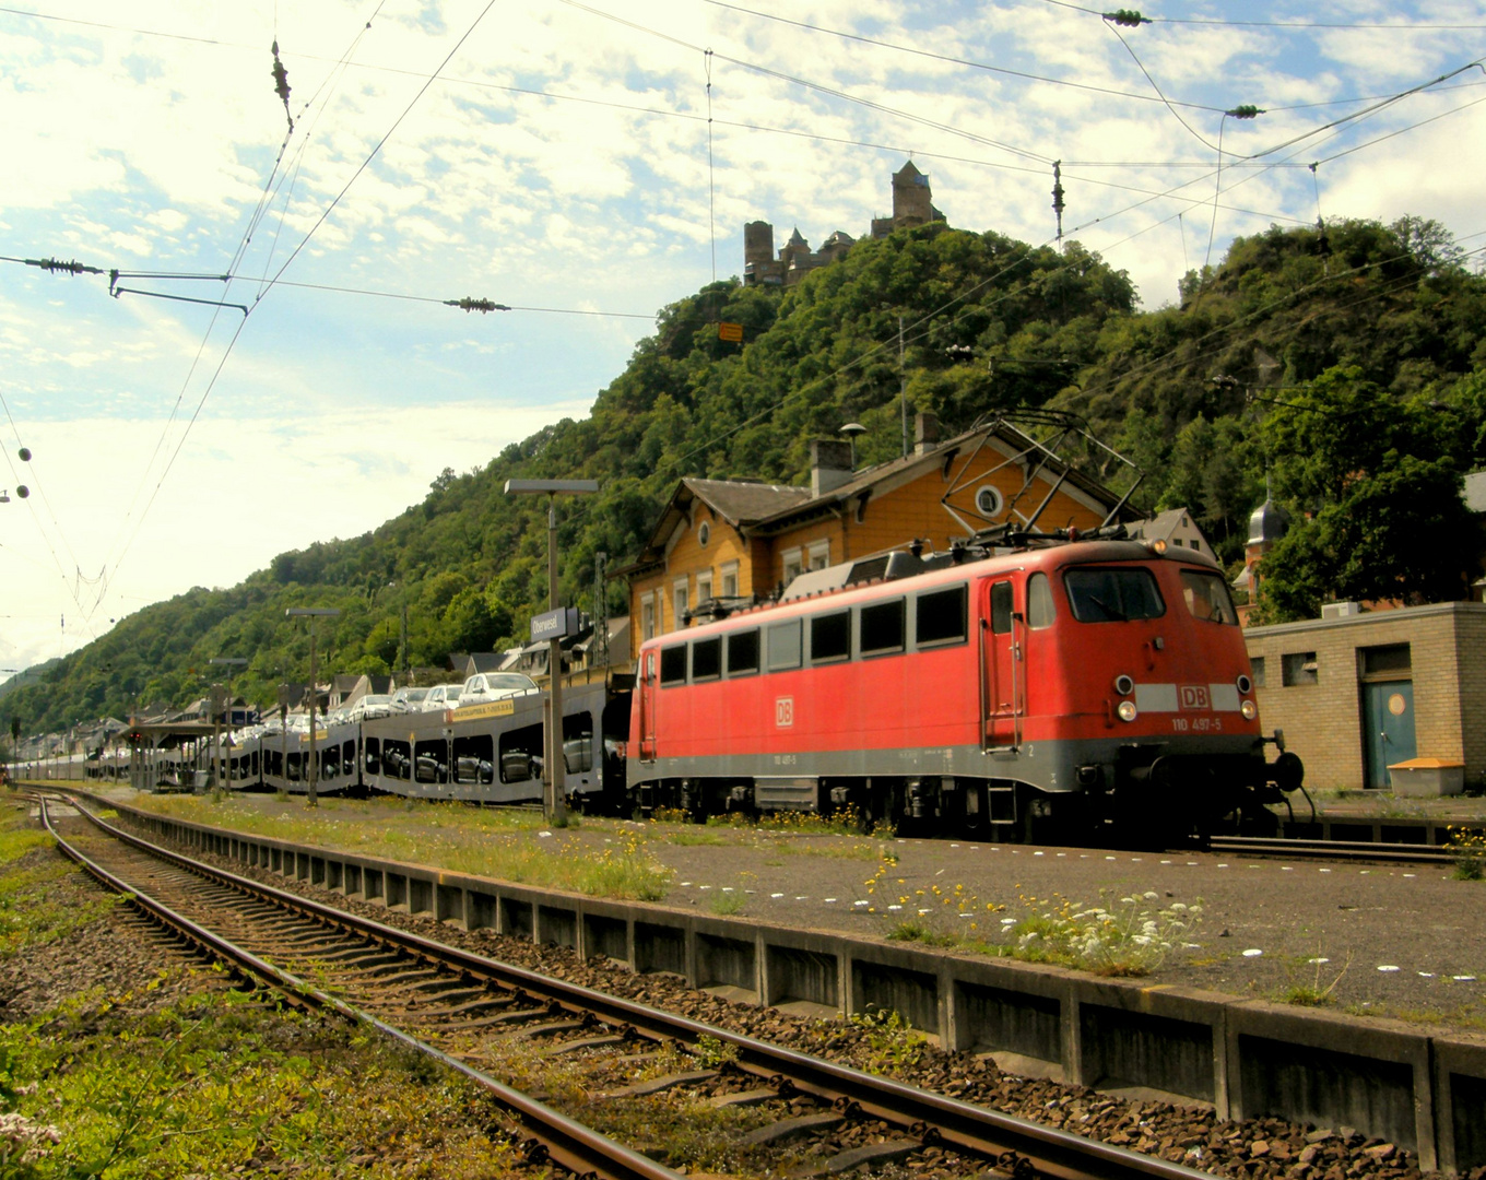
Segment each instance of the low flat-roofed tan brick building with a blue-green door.
[{"label": "low flat-roofed tan brick building with a blue-green door", "polygon": [[1486,776],[1486,605],[1441,602],[1248,627],[1265,728],[1306,782],[1388,789],[1388,765],[1434,758]]}]

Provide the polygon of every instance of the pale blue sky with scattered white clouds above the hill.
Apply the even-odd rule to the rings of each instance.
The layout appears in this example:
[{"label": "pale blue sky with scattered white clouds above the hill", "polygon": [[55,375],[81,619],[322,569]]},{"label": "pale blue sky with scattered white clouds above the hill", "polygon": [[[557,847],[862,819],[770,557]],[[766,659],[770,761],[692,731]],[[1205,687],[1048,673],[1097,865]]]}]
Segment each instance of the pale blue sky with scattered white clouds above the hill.
[{"label": "pale blue sky with scattered white clouds above the hill", "polygon": [[1064,236],[1147,309],[1271,224],[1413,214],[1486,247],[1486,7],[1141,15],[0,7],[0,678],[583,418],[660,308],[742,275],[746,221],[862,236],[909,158],[953,226],[1036,244],[1058,162]]}]

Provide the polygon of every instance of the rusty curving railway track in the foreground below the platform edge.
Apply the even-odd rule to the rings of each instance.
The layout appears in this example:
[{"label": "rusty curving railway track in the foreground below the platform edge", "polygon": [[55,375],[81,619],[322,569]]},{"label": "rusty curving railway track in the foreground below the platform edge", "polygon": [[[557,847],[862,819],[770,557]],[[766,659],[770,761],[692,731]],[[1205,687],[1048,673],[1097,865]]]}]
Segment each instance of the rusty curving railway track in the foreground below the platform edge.
[{"label": "rusty curving railway track in the foreground below the platform edge", "polygon": [[[192,860],[77,810],[94,829],[71,838],[45,803],[43,819],[98,880],[294,1003],[363,1021],[470,1077],[519,1121],[538,1164],[676,1180],[669,1167],[539,1100],[583,1092],[585,1121],[600,1125],[643,1124],[643,1103],[664,1118],[660,1107],[678,1095],[733,1112],[721,1119],[734,1138],[728,1158],[755,1174],[903,1165],[920,1176],[1010,1180],[1204,1176],[447,947]],[[563,1094],[533,1097],[499,1080],[513,1057],[525,1057],[529,1074],[533,1057],[550,1063],[551,1074],[568,1079],[551,1086]]]}]

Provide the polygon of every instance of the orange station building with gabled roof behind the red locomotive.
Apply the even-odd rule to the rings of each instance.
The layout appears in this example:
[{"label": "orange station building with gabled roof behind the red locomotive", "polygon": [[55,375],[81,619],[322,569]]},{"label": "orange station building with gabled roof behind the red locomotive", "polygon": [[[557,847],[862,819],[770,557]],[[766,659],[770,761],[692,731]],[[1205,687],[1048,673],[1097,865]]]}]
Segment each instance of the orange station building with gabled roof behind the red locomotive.
[{"label": "orange station building with gabled roof behind the red locomotive", "polygon": [[865,471],[853,471],[849,443],[811,443],[808,487],[681,480],[645,548],[612,574],[630,583],[632,654],[709,599],[764,599],[805,571],[915,539],[944,551],[1025,522],[1045,498],[1042,529],[1097,528],[1119,502],[1057,459],[1037,468],[1037,444],[1006,424],[939,443],[933,416],[918,415],[915,432],[912,453]]}]

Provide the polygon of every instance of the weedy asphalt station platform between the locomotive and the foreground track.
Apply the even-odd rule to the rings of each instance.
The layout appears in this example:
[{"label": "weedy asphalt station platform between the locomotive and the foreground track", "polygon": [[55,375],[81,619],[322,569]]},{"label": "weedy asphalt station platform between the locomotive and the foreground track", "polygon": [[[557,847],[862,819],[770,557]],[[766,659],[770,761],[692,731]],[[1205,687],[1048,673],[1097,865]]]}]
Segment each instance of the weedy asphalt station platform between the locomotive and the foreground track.
[{"label": "weedy asphalt station platform between the locomotive and the foreground track", "polygon": [[[97,788],[94,788],[97,789]],[[1152,914],[1174,904],[1201,918],[1146,979],[1285,1002],[1324,993],[1333,1011],[1486,1031],[1486,883],[1447,866],[1285,860],[1202,852],[1120,852],[970,840],[810,835],[583,817],[544,826],[531,811],[406,800],[235,794],[149,797],[104,789],[120,803],[212,826],[502,877],[502,860],[533,853],[572,862],[637,850],[669,869],[661,904],[856,936],[930,938],[994,954],[1010,921],[1094,905]],[[1383,819],[1375,798],[1324,798],[1333,819]],[[1431,801],[1433,803],[1433,801]],[[1482,800],[1449,800],[1470,820]],[[1410,807],[1415,801],[1409,801]],[[1443,808],[1441,808],[1443,810]],[[486,863],[471,858],[484,850]],[[1010,921],[1009,921],[1010,920]],[[915,933],[917,932],[917,933]],[[979,950],[976,950],[979,947]]]}]

